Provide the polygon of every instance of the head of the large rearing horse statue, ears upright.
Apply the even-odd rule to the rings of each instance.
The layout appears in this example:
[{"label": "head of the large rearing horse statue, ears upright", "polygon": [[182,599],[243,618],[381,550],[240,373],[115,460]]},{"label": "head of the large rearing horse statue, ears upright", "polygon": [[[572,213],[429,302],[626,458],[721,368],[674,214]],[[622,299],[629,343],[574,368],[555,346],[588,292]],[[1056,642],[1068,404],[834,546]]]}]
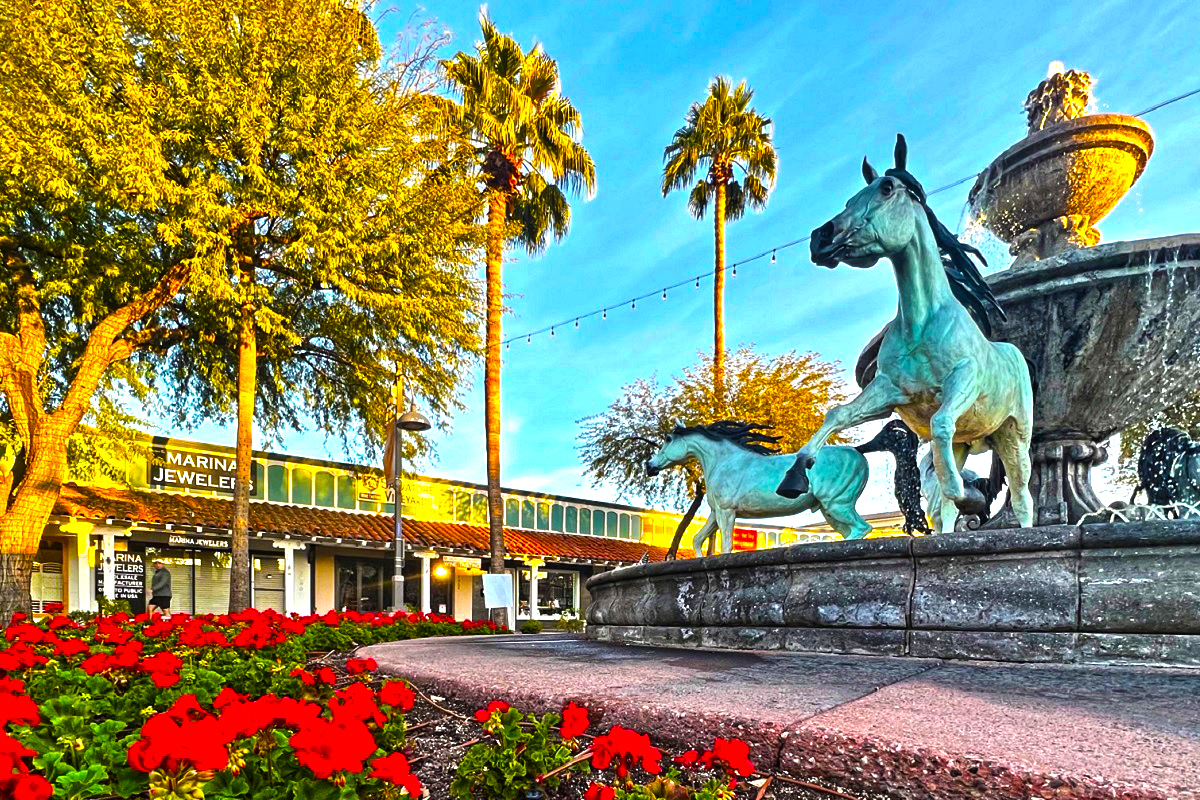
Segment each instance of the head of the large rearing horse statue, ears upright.
[{"label": "head of the large rearing horse statue, ears upright", "polygon": [[907,156],[904,137],[896,136],[895,168],[880,176],[863,158],[866,188],[850,198],[841,213],[812,231],[809,249],[814,264],[875,266],[881,258],[912,241],[917,221],[924,219],[925,213],[924,197],[914,190],[916,181],[907,182],[912,179],[905,169]]}]

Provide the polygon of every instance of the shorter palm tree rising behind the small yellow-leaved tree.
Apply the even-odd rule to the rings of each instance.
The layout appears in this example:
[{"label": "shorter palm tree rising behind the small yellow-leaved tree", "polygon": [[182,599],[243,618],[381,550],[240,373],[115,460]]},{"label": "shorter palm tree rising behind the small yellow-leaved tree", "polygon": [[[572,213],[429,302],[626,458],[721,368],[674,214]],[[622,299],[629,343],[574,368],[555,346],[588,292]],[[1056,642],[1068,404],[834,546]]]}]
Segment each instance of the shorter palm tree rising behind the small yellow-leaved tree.
[{"label": "shorter palm tree rising behind the small yellow-leaved tree", "polygon": [[[703,218],[709,203],[716,239],[713,279],[713,389],[725,397],[725,223],[746,207],[760,210],[775,185],[776,155],[772,121],[750,107],[745,80],[731,91],[730,79],[713,78],[703,103],[692,103],[686,122],[662,151],[662,197],[685,188],[707,168],[688,197],[688,210]],[[734,168],[742,170],[742,180]]]}]

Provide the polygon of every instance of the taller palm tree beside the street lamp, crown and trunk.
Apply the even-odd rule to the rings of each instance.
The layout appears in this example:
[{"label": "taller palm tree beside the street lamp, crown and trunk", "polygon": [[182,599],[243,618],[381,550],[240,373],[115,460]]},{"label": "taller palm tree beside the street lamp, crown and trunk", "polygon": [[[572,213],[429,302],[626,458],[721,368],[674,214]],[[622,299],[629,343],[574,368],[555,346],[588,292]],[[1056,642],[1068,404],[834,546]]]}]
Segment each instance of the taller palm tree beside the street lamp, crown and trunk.
[{"label": "taller palm tree beside the street lamp, crown and trunk", "polygon": [[[550,236],[566,235],[571,209],[565,192],[595,192],[595,166],[580,144],[578,110],[562,94],[558,64],[541,46],[524,53],[479,18],[484,38],[475,54],[443,61],[445,79],[462,97],[456,124],[479,154],[487,206],[487,331],[484,360],[484,416],[487,445],[487,518],[492,572],[504,571],[504,507],[500,500],[500,313],[504,247],[515,241],[529,253]],[[508,624],[506,614],[497,615]]]}]

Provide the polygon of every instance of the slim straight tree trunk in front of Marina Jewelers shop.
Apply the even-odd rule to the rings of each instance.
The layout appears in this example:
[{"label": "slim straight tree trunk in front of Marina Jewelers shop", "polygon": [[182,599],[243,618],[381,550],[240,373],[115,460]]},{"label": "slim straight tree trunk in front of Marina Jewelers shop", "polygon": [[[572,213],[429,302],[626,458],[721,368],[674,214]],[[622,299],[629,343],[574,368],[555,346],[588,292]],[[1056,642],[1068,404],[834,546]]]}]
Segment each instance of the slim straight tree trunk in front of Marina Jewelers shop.
[{"label": "slim straight tree trunk in front of Marina Jewelers shop", "polygon": [[233,542],[229,564],[229,613],[253,604],[250,596],[250,483],[254,470],[254,393],[258,339],[254,332],[254,267],[241,270],[241,320],[238,330],[238,452],[233,485]]}]

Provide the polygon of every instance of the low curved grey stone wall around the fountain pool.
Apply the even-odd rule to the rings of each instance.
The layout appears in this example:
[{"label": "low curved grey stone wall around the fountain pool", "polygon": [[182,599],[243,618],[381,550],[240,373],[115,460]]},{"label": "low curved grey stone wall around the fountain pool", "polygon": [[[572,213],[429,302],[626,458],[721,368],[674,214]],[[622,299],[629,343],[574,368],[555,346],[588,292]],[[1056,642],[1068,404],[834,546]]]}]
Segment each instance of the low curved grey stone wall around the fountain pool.
[{"label": "low curved grey stone wall around the fountain pool", "polygon": [[1200,666],[1200,521],[796,545],[587,588],[599,640]]}]

